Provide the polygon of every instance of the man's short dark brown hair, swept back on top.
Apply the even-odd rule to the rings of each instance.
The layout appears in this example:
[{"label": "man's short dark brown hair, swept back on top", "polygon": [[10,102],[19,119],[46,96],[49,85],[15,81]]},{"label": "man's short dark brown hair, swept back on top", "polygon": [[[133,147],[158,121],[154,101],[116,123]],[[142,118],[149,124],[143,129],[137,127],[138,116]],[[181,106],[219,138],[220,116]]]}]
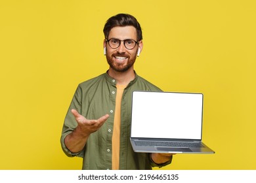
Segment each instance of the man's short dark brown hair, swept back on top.
[{"label": "man's short dark brown hair, swept back on top", "polygon": [[115,16],[110,17],[103,29],[105,38],[108,39],[108,35],[110,33],[110,30],[113,27],[124,27],[127,25],[131,25],[133,27],[135,27],[135,29],[137,30],[137,41],[142,40],[142,31],[141,31],[141,27],[139,22],[137,21],[137,19],[132,16],[131,14],[116,14]]}]

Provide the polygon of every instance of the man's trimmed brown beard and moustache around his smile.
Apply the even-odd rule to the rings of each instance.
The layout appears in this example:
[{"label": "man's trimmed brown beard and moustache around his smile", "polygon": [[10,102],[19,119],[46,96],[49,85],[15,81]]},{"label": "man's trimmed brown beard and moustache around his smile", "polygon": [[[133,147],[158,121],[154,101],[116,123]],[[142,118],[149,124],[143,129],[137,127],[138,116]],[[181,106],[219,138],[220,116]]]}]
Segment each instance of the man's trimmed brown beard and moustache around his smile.
[{"label": "man's trimmed brown beard and moustache around his smile", "polygon": [[[125,57],[127,58],[127,61],[124,61],[123,63],[117,63],[114,59],[115,57]],[[125,72],[127,70],[129,70],[131,67],[133,67],[133,64],[135,63],[136,60],[136,56],[127,56],[126,54],[106,54],[106,59],[108,61],[108,65],[110,65],[110,67],[112,69],[114,69],[114,71],[117,72]]]}]

